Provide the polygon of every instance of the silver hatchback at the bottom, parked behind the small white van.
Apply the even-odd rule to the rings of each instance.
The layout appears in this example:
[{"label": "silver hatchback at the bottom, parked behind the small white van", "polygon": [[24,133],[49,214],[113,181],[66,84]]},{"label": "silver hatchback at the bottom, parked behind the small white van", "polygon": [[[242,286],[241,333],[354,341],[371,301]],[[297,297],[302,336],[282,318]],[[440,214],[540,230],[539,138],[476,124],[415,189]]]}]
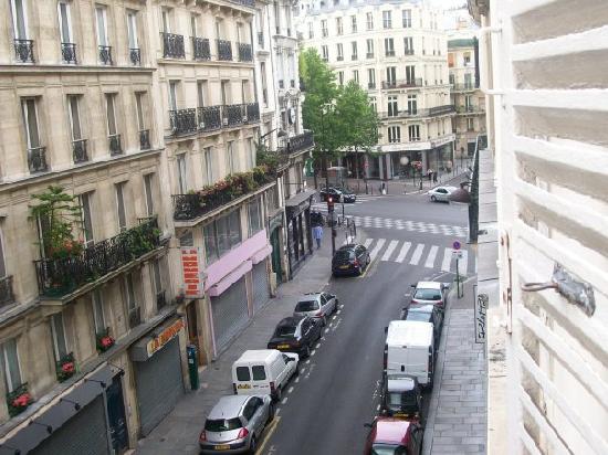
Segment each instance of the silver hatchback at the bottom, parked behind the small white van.
[{"label": "silver hatchback at the bottom, parked behind the small white van", "polygon": [[213,406],[200,432],[203,454],[254,454],[266,424],[274,419],[269,395],[222,396]]}]

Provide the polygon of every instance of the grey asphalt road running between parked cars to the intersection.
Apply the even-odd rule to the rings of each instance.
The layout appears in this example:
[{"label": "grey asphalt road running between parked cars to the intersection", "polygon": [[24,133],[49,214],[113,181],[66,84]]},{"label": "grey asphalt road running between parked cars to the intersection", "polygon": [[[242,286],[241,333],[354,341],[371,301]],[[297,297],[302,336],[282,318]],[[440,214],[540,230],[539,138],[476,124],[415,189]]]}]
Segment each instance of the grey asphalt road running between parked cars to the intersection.
[{"label": "grey asphalt road running between parked cars to the intersection", "polygon": [[[346,211],[358,216],[467,224],[464,210],[430,203],[424,195],[370,198],[360,204],[348,205]],[[441,272],[440,257],[440,253],[457,240],[450,235],[395,229],[380,223],[378,228],[359,228],[358,237],[361,243],[371,239],[371,250],[380,245],[377,255],[363,276],[329,282],[327,290],[338,296],[340,309],[332,318],[317,349],[303,361],[297,382],[292,382],[293,388],[287,390],[279,406],[280,422],[264,438],[259,453],[361,453],[367,436],[364,423],[371,422],[379,406],[384,328],[399,318],[410,283],[452,278],[451,274]],[[464,244],[465,239],[458,240]],[[396,257],[406,243],[411,247],[398,262]],[[424,247],[417,254],[420,244]],[[415,261],[417,255],[418,261]],[[469,268],[472,267],[473,264],[469,264]]]}]

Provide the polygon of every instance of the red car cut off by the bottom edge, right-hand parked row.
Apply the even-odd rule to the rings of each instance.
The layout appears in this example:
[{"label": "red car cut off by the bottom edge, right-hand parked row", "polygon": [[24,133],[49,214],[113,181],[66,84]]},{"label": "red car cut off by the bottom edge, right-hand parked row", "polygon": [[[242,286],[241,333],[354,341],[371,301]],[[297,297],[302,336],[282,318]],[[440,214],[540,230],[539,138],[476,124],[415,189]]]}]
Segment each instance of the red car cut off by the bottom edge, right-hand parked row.
[{"label": "red car cut off by the bottom edge, right-hand parked row", "polygon": [[365,455],[420,455],[424,428],[418,422],[395,417],[376,417],[366,423],[371,428],[365,445]]}]

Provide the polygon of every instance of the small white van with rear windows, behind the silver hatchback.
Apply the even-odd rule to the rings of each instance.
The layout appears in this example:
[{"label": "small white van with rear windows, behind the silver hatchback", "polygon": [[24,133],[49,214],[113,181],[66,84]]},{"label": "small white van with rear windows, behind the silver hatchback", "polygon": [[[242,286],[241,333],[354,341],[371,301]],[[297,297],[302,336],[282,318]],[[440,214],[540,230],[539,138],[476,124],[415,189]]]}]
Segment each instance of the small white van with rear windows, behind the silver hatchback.
[{"label": "small white van with rear windows, behind the silver hatchback", "polygon": [[281,400],[290,378],[297,375],[300,357],[276,349],[244,351],[232,363],[232,388],[239,395],[271,395]]}]

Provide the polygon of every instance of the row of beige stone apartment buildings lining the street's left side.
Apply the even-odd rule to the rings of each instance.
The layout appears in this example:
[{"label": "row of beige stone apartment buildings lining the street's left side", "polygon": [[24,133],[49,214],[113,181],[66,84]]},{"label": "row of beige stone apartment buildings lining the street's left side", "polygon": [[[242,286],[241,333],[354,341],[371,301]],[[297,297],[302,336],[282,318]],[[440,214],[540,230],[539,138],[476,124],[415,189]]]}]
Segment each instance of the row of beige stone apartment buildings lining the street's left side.
[{"label": "row of beige stone apartment buildings lining the street's left side", "polygon": [[[217,359],[291,277],[290,242],[308,254],[287,214],[306,218],[290,200],[314,142],[273,11],[0,4],[0,453],[135,447],[189,390],[188,359]],[[279,169],[258,166],[266,134]]]}]

